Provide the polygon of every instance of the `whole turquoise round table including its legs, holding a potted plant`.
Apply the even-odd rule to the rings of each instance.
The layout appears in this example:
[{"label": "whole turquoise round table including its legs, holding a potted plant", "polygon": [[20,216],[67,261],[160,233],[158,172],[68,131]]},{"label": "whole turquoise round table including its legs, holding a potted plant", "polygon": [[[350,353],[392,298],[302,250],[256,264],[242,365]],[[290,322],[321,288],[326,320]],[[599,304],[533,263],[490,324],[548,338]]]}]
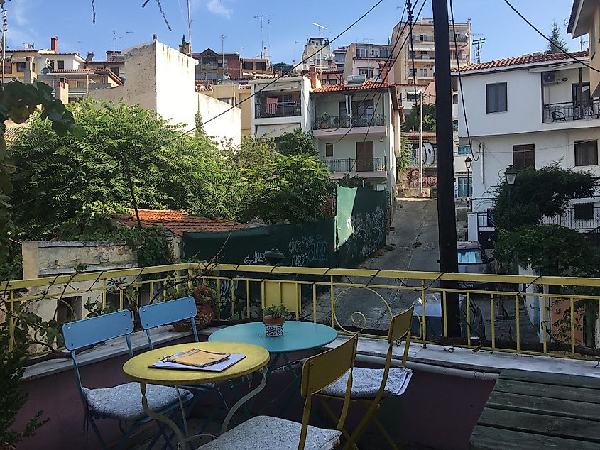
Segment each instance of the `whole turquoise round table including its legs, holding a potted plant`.
[{"label": "whole turquoise round table including its legs, holding a potted plant", "polygon": [[[222,341],[222,342],[243,342],[245,344],[254,344],[267,349],[269,353],[273,354],[273,359],[269,363],[265,377],[273,373],[278,369],[288,371],[293,375],[296,380],[296,385],[300,388],[302,380],[298,376],[298,373],[294,370],[294,364],[298,361],[290,361],[287,353],[293,353],[296,351],[307,351],[307,350],[318,350],[322,346],[325,346],[337,338],[337,331],[331,326],[315,324],[313,322],[298,322],[294,320],[286,320],[283,326],[283,336],[280,337],[267,337],[265,334],[265,326],[263,322],[251,322],[248,324],[239,324],[226,326],[225,328],[215,331],[208,338],[209,341]],[[278,361],[283,359],[283,364],[278,366]],[[292,387],[294,383],[289,383],[288,386],[278,393],[278,395],[272,400],[266,402],[266,405],[262,408],[263,411],[268,405],[272,405]],[[253,400],[256,401],[257,397]],[[280,414],[283,414],[290,405],[293,399],[293,393],[288,395],[288,399],[279,403]],[[254,403],[254,402],[253,402]],[[248,410],[246,410],[248,411]]]}]

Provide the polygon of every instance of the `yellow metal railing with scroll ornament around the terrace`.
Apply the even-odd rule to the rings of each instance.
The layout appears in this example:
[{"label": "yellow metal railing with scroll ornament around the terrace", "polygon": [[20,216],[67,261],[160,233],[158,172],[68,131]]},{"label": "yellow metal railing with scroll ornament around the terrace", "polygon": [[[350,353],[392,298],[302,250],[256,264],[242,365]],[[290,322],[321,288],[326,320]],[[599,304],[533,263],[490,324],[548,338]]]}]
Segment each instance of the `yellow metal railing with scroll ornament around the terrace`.
[{"label": "yellow metal railing with scroll ornament around the terrace", "polygon": [[[149,302],[189,295],[200,282],[216,291],[217,319],[229,322],[260,317],[263,307],[282,303],[293,312],[294,319],[329,323],[341,332],[360,329],[365,336],[382,337],[389,317],[410,306],[406,300],[397,301],[398,295],[408,292],[424,299],[420,316],[414,319],[417,340],[423,346],[430,342],[570,358],[600,356],[596,349],[599,342],[585,342],[586,330],[599,327],[600,295],[594,288],[600,288],[600,278],[185,263],[0,282],[0,314],[10,316],[14,327],[20,312],[34,312],[44,320],[60,319],[57,312],[65,305],[62,310],[69,313],[69,319],[80,319],[89,314],[83,307],[89,302],[97,305],[97,312],[107,307],[137,309]],[[489,283],[493,288],[459,288],[450,282]],[[530,287],[535,287],[535,292],[528,292]],[[358,292],[363,300],[369,297],[369,302],[356,300]],[[432,312],[435,295],[445,312],[451,293],[458,293],[464,302],[460,337],[448,336],[454,318]],[[381,306],[380,328],[369,326],[371,314],[379,311],[371,300]],[[371,306],[365,306],[367,303]],[[483,309],[476,304],[489,314],[483,317]],[[593,309],[593,314],[585,314],[586,308]],[[539,323],[530,323],[528,309],[537,310]],[[484,322],[484,335],[473,329],[474,312]]]}]

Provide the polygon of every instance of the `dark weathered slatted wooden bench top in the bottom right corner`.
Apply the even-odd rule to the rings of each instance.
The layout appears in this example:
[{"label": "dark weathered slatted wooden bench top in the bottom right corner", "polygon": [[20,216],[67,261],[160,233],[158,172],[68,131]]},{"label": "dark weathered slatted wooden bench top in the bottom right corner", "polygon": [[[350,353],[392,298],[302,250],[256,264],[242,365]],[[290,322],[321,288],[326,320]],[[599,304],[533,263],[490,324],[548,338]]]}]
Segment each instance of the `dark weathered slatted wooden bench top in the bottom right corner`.
[{"label": "dark weathered slatted wooden bench top in the bottom right corner", "polygon": [[502,371],[471,449],[546,448],[600,449],[600,378]]}]

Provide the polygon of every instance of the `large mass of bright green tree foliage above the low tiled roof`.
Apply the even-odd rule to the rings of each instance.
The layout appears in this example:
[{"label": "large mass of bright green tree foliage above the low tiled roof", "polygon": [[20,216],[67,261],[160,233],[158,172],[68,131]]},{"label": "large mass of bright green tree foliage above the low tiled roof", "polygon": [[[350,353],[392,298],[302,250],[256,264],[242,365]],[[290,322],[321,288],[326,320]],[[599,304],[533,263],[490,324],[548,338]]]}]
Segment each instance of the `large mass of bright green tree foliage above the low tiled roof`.
[{"label": "large mass of bright green tree foliage above the low tiled roof", "polygon": [[124,159],[138,207],[236,221],[322,216],[327,170],[302,131],[282,138],[288,155],[259,138],[219,150],[203,133],[180,136],[180,126],[138,106],[87,100],[69,108],[82,136],[60,136],[34,114],[11,145],[21,238],[51,238],[60,224],[96,203],[132,207]]}]

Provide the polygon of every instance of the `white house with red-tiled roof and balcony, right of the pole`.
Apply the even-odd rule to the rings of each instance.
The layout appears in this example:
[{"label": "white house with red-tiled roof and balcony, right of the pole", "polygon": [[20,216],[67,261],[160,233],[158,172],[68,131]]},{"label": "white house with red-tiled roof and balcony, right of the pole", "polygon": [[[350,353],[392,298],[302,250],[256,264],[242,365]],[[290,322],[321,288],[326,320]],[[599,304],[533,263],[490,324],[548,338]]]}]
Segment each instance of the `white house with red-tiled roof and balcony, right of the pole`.
[{"label": "white house with red-tiled roof and balcony, right of the pole", "polygon": [[[589,61],[587,52],[535,54],[462,68],[459,110],[464,102],[473,159],[471,240],[478,235],[477,215],[485,219],[508,165],[522,170],[560,163],[600,175],[600,100],[590,97],[589,68],[573,58]],[[459,140],[461,148],[468,145],[462,114]],[[555,220],[590,231],[600,226],[597,202],[578,199]]]}]

